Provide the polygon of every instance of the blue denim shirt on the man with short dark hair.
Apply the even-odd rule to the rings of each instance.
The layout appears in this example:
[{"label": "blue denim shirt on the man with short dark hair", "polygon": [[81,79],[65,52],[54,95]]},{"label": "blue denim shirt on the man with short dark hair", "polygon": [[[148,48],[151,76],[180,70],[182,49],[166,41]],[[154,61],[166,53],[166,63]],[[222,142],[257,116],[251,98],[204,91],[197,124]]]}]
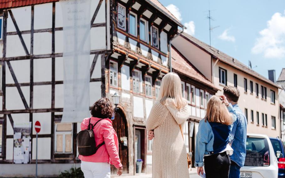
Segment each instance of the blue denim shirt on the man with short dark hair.
[{"label": "blue denim shirt on the man with short dark hair", "polygon": [[246,116],[241,112],[241,109],[237,104],[233,105],[233,107],[236,110],[237,119],[236,122],[234,122],[231,131],[230,143],[232,149],[234,150],[234,153],[231,155],[231,160],[242,167],[246,159],[247,120]]}]

